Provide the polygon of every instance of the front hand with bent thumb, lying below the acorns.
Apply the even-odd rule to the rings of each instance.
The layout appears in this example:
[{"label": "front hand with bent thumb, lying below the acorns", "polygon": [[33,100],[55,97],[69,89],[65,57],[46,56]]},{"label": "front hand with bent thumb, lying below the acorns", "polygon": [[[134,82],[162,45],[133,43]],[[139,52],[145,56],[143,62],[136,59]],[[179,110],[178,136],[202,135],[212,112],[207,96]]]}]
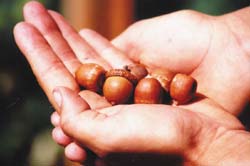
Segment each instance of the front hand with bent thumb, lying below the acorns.
[{"label": "front hand with bent thumb, lying below the acorns", "polygon": [[247,165],[250,162],[250,133],[209,99],[181,107],[134,104],[90,110],[88,103],[72,90],[57,88],[54,94],[62,110],[63,131],[82,147],[95,152],[101,159],[98,163]]}]

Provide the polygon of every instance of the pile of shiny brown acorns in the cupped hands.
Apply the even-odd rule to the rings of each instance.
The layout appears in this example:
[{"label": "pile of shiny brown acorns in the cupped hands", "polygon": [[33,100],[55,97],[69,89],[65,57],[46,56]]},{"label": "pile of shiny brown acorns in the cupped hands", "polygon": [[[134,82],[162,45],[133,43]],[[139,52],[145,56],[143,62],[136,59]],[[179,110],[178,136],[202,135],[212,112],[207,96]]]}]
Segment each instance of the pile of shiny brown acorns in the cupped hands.
[{"label": "pile of shiny brown acorns in the cupped hands", "polygon": [[105,71],[94,63],[86,63],[76,71],[76,81],[84,89],[103,95],[116,104],[185,104],[196,93],[197,81],[186,74],[168,70],[150,73],[141,64]]}]

